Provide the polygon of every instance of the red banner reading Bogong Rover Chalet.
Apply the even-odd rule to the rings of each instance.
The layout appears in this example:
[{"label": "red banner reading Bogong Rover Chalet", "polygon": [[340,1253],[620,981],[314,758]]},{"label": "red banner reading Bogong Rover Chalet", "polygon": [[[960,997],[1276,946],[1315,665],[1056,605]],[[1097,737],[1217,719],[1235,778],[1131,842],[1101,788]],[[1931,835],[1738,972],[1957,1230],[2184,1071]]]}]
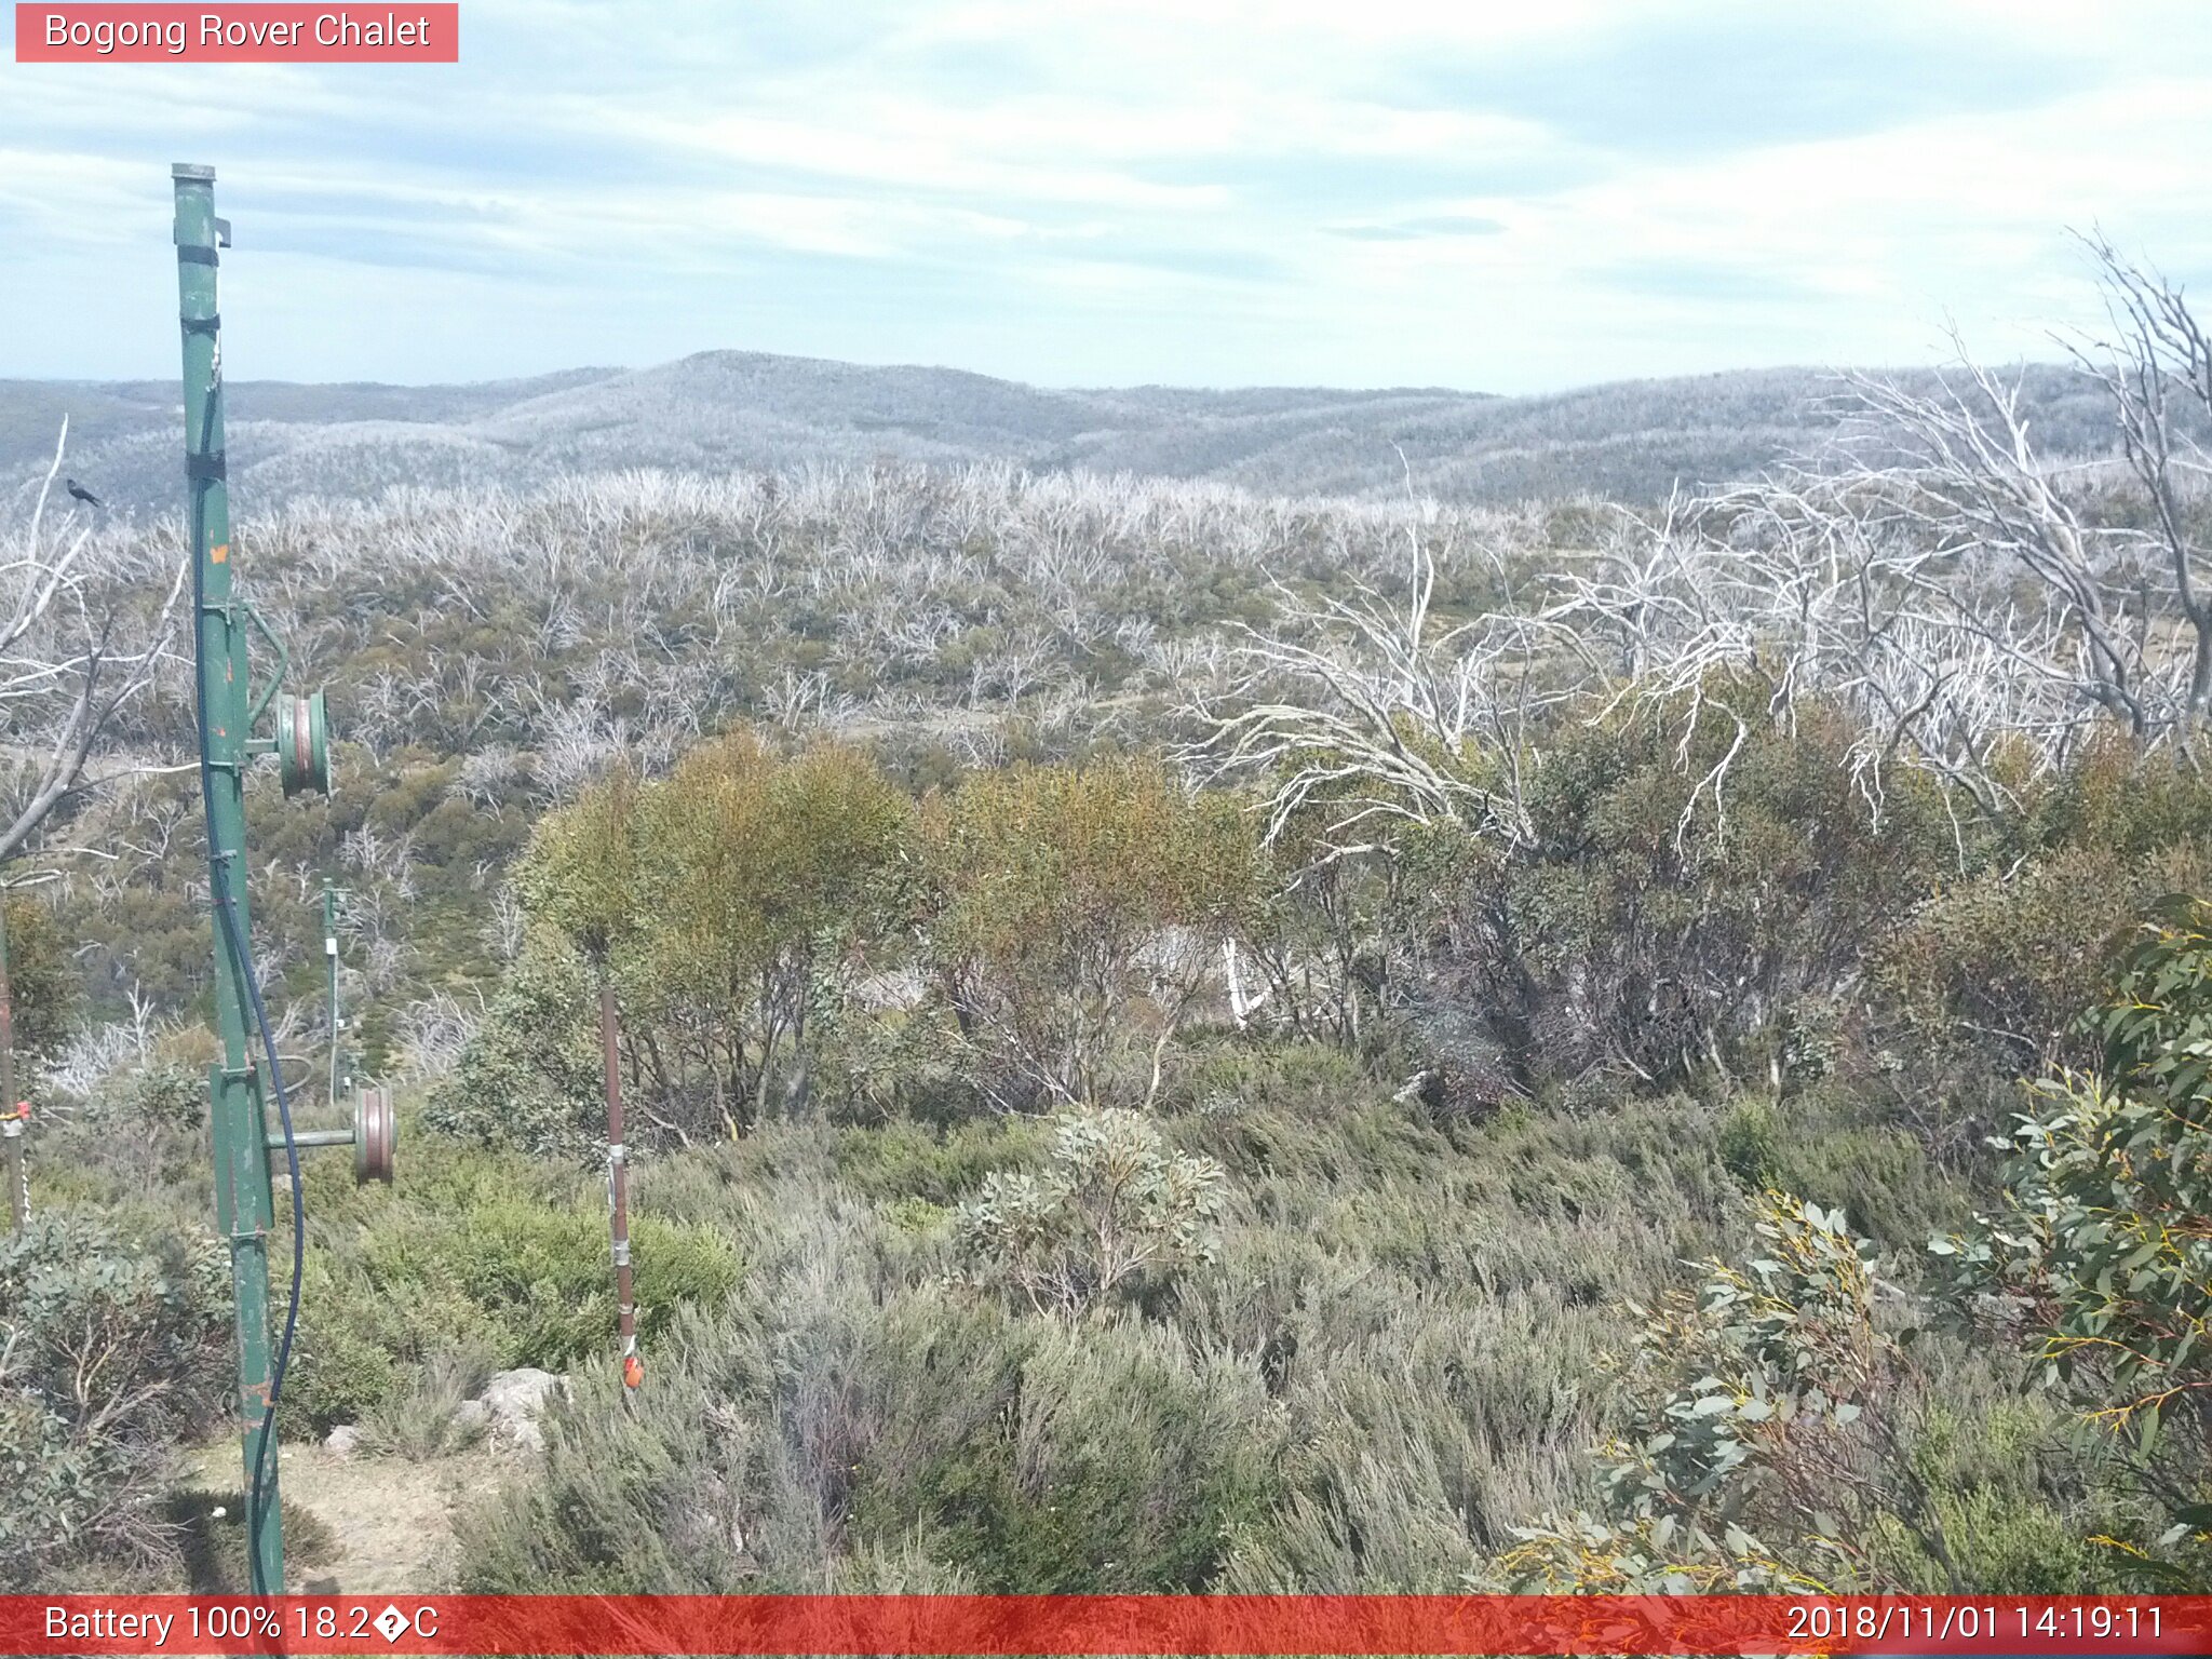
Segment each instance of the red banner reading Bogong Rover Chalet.
[{"label": "red banner reading Bogong Rover Chalet", "polygon": [[22,4],[18,64],[458,64],[460,7]]}]

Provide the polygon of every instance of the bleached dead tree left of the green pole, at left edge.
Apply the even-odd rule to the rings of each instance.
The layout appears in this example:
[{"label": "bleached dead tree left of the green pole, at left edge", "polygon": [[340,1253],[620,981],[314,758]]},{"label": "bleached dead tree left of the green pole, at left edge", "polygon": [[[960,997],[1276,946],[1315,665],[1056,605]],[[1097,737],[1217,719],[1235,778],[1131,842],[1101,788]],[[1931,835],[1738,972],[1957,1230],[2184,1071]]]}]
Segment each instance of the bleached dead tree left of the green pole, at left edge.
[{"label": "bleached dead tree left of the green pole, at left edge", "polygon": [[161,661],[186,577],[179,564],[168,597],[148,604],[164,571],[144,544],[64,520],[53,484],[66,445],[64,420],[29,520],[0,544],[0,765],[9,774],[0,860],[86,785],[100,741]]}]

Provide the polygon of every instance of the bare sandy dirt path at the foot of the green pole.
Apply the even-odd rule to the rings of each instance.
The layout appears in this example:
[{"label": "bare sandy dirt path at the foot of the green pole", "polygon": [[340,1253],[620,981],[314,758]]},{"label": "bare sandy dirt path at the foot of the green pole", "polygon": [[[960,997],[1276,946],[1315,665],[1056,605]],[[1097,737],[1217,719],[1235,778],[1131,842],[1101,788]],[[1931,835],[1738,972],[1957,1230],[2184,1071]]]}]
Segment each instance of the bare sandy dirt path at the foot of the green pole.
[{"label": "bare sandy dirt path at the foot of the green pole", "polygon": [[[323,1447],[276,1455],[285,1509],[305,1509],[330,1528],[332,1548],[290,1566],[307,1595],[376,1595],[451,1586],[453,1511],[515,1475],[513,1458],[465,1451],[429,1462],[338,1458]],[[188,1460],[186,1489],[237,1493],[239,1449],[204,1447]]]}]

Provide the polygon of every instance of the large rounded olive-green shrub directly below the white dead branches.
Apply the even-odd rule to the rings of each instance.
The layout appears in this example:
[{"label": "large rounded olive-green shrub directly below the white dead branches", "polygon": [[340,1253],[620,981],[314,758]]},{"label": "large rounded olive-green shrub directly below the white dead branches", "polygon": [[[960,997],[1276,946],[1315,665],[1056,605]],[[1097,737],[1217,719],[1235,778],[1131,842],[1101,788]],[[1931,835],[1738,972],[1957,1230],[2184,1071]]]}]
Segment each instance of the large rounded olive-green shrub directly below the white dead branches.
[{"label": "large rounded olive-green shrub directly below the white dead branches", "polygon": [[1688,737],[1679,708],[1628,703],[1533,774],[1531,845],[1433,849],[1416,894],[1449,907],[1416,898],[1407,927],[1533,1075],[1778,1071],[1790,1009],[1847,984],[1951,852],[1922,779],[1876,812],[1851,739],[1818,708],[1783,728],[1728,681]]}]

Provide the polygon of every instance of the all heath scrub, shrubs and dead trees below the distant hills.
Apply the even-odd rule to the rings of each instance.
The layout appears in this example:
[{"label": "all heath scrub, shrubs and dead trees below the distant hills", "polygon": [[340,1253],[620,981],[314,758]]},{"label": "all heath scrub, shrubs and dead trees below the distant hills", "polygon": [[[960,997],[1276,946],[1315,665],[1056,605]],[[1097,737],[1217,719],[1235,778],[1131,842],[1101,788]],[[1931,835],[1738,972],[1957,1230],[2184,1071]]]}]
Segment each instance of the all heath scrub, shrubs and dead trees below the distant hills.
[{"label": "all heath scrub, shrubs and dead trees below the distant hills", "polygon": [[[434,1458],[568,1371],[476,1590],[2203,1588],[2212,356],[2090,254],[2066,453],[1964,365],[1626,504],[246,520],[343,737],[252,792],[276,1044],[323,1062],[336,874],[407,1113],[396,1188],[307,1175],[296,1431]],[[226,1343],[177,533],[22,549],[144,644],[86,787],[40,805],[82,653],[11,728],[0,1458],[53,1500],[0,1571],[161,1582]]]}]

